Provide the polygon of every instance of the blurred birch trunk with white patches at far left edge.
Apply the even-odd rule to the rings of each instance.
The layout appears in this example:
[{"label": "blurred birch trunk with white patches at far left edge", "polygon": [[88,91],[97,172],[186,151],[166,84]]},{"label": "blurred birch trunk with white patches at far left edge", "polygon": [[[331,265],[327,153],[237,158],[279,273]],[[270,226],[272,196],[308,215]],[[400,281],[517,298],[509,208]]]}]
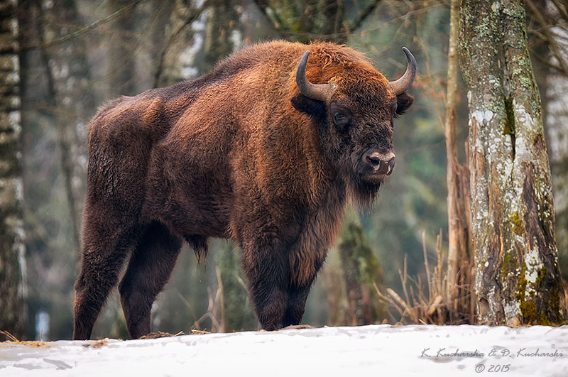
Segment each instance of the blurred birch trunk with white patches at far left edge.
[{"label": "blurred birch trunk with white patches at far left edge", "polygon": [[0,1],[0,329],[23,334],[25,247],[16,1]]}]

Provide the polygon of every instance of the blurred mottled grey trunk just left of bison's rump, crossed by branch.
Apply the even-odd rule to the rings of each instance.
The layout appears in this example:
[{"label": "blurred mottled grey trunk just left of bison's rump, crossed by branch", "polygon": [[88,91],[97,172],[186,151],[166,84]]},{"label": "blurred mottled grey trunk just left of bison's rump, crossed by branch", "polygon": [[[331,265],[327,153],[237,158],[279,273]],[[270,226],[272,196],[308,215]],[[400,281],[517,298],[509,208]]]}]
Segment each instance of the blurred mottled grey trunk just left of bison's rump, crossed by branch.
[{"label": "blurred mottled grey trunk just left of bison's rump, crossed by branch", "polygon": [[[60,26],[68,27],[79,18],[75,0],[38,0],[37,6],[41,15],[36,23],[40,43],[45,43],[46,35],[55,35],[55,38],[66,35],[67,29]],[[58,131],[60,165],[76,253],[80,244],[82,197],[87,175],[84,124],[94,115],[96,100],[84,40],[77,38],[63,46],[42,48],[40,55],[47,79],[48,111]]]}]

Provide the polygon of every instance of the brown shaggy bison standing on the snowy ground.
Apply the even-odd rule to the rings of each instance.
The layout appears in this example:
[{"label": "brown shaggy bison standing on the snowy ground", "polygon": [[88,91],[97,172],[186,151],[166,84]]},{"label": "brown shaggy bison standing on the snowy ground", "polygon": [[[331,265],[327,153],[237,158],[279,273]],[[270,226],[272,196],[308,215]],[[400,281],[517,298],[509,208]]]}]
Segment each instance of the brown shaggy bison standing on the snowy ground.
[{"label": "brown shaggy bison standing on the snowy ground", "polygon": [[[309,51],[306,51],[309,49]],[[131,337],[187,241],[242,251],[264,329],[300,324],[346,202],[371,204],[393,171],[393,118],[412,104],[416,62],[388,82],[351,48],[276,41],[207,75],[121,97],[90,124],[74,339],[89,339],[119,285]],[[309,56],[309,62],[308,62]]]}]

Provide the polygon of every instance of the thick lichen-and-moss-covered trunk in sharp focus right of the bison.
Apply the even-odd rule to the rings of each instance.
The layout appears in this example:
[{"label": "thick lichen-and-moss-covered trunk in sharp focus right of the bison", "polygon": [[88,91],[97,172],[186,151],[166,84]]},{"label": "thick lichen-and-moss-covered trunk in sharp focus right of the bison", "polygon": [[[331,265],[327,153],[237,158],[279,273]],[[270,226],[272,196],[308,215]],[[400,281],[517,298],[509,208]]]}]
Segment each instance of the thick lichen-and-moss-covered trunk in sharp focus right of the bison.
[{"label": "thick lichen-and-moss-covered trunk in sharp focus right of the bison", "polygon": [[461,0],[460,13],[478,319],[559,324],[567,312],[523,1]]}]

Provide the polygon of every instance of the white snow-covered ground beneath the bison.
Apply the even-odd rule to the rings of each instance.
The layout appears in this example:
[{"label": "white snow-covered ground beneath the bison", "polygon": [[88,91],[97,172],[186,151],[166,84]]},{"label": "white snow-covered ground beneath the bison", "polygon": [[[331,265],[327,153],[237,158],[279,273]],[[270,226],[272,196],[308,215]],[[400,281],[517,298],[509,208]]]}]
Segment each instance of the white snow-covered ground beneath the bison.
[{"label": "white snow-covered ground beneath the bison", "polygon": [[[568,327],[324,327],[0,344],[0,376],[568,376]],[[204,374],[207,373],[207,374]]]}]

